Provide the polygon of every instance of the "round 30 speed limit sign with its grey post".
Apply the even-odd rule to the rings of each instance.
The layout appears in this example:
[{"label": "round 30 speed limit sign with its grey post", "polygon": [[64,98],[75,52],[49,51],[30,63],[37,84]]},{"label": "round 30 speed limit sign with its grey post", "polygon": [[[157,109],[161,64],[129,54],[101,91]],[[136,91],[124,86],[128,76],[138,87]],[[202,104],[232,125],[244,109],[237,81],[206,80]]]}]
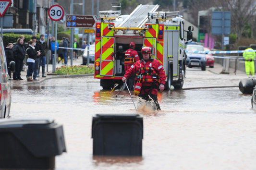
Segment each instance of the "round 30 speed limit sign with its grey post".
[{"label": "round 30 speed limit sign with its grey post", "polygon": [[[52,21],[55,21],[55,50],[52,55],[52,73],[56,72],[56,56],[57,56],[57,21],[60,21],[64,16],[64,10],[60,5],[52,5],[49,8],[48,15]],[[48,63],[47,63],[48,64]]]}]

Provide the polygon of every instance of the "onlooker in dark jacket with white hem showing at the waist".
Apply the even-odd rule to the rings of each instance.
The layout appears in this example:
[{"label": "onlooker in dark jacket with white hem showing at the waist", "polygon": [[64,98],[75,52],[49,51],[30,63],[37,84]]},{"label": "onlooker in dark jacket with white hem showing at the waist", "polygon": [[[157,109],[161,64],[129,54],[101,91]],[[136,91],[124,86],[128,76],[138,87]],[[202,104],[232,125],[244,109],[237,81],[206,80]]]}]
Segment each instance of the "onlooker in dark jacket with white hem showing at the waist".
[{"label": "onlooker in dark jacket with white hem showing at the waist", "polygon": [[26,53],[27,53],[27,56],[28,56],[28,58],[27,58],[28,68],[27,68],[26,78],[27,78],[28,82],[31,82],[31,81],[34,81],[32,79],[32,74],[34,72],[35,61],[36,61],[37,57],[40,56],[41,53],[40,53],[40,51],[36,51],[34,41],[29,41],[28,42],[28,48],[26,49]]}]

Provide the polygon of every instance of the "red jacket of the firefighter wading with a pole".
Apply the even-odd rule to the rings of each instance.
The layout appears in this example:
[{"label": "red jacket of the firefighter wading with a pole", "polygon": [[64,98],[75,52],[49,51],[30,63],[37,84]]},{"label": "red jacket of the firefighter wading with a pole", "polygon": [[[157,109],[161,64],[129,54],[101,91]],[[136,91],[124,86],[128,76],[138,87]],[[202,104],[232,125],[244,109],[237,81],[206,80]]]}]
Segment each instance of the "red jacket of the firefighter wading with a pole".
[{"label": "red jacket of the firefighter wading with a pole", "polygon": [[165,71],[158,60],[137,61],[125,72],[123,77],[128,79],[134,73],[137,73],[137,81],[142,83],[141,95],[158,95],[159,84],[165,85]]}]

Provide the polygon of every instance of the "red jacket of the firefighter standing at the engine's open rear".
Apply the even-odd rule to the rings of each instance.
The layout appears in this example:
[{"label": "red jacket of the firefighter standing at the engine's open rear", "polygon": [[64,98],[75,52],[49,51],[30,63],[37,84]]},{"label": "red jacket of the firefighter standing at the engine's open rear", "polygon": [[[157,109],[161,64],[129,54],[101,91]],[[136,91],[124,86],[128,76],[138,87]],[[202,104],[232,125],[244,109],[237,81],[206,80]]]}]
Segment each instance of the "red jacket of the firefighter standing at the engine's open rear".
[{"label": "red jacket of the firefighter standing at the engine's open rear", "polygon": [[127,49],[124,54],[124,69],[128,70],[136,61],[139,61],[138,52],[134,49]]}]

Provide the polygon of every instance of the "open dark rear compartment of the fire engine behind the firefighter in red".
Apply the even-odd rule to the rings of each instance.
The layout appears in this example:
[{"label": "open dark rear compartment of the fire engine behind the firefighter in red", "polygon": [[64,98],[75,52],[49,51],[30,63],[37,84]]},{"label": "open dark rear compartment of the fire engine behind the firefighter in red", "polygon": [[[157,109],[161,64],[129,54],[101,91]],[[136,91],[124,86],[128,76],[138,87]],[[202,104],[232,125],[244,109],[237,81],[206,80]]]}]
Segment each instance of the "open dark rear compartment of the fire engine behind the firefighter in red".
[{"label": "open dark rear compartment of the fire engine behind the firefighter in red", "polygon": [[138,52],[140,59],[142,59],[141,49],[143,47],[143,37],[115,37],[115,60],[114,60],[114,75],[123,76],[124,70],[124,54],[127,49],[129,49],[129,44],[131,42],[135,43],[135,50]]}]

